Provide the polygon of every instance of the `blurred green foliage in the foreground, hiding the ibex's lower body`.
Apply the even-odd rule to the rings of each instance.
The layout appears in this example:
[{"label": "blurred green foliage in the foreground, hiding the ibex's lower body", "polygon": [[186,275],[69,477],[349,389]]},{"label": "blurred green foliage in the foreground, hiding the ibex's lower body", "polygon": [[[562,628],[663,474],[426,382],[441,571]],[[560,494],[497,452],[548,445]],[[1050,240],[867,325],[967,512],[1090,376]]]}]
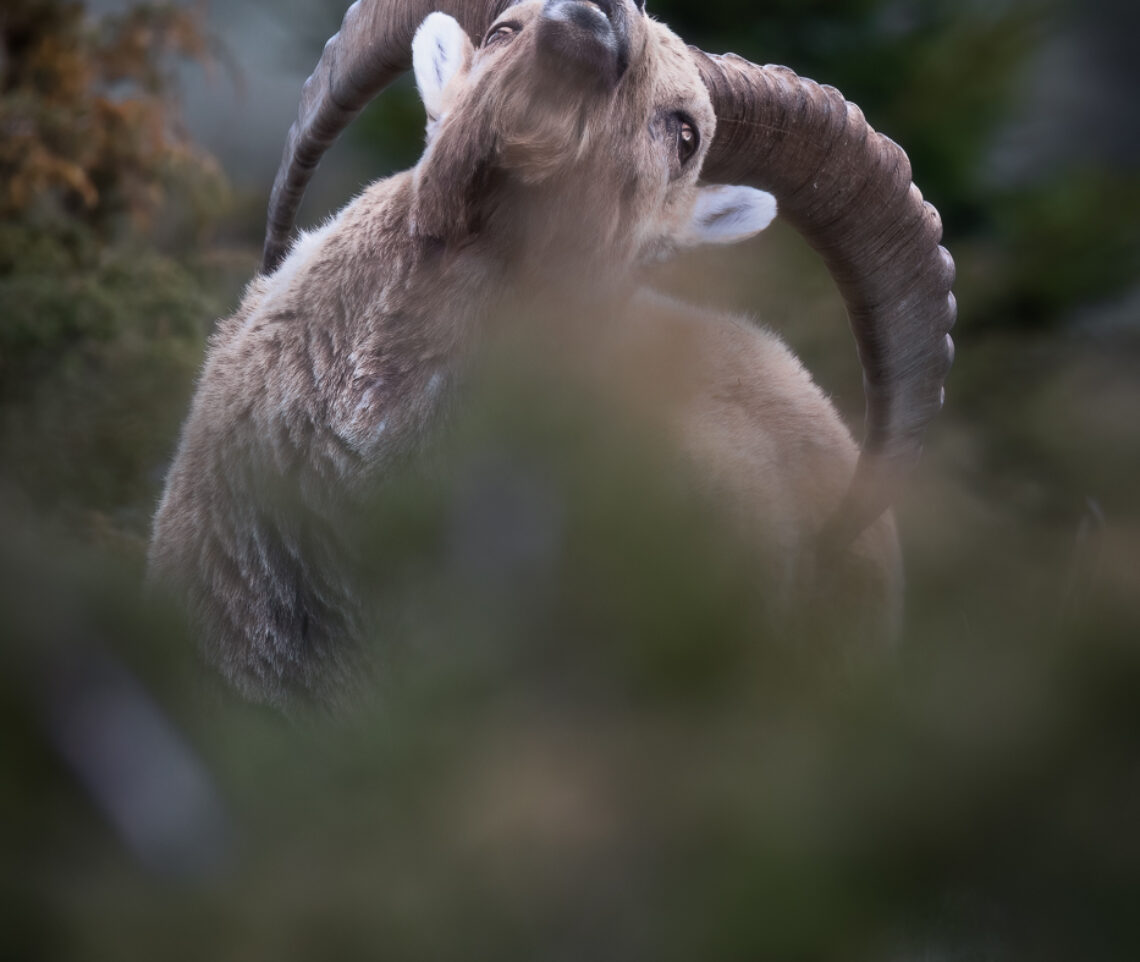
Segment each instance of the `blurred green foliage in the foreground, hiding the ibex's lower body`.
[{"label": "blurred green foliage in the foreground, hiding the ibex's lower body", "polygon": [[[348,717],[283,724],[197,691],[182,636],[156,644],[161,622],[116,604],[129,584],[42,540],[6,547],[10,944],[60,959],[1134,957],[1127,596],[1098,585],[1061,617],[1035,538],[995,537],[979,560],[971,525],[964,562],[920,566],[904,652],[765,637],[743,555],[651,457],[630,458],[643,442],[549,397],[538,372],[497,376],[453,472],[404,479],[361,519],[384,602],[412,617],[377,639],[385,677]],[[455,532],[486,498],[500,540],[472,557]],[[561,506],[560,549],[520,555],[513,535],[544,504]],[[65,609],[46,613],[46,584]],[[198,747],[238,826],[214,871],[144,871],[55,759],[32,693],[92,643]]]}]

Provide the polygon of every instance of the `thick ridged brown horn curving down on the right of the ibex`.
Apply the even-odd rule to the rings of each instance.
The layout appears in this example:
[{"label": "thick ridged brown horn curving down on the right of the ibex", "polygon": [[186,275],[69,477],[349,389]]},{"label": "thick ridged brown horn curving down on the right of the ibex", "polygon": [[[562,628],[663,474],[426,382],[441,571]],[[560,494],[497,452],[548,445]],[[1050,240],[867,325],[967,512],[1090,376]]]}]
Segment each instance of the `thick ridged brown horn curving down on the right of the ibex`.
[{"label": "thick ridged brown horn curving down on the right of the ibex", "polygon": [[717,115],[702,176],[775,195],[823,256],[863,365],[866,435],[845,503],[825,531],[848,543],[894,500],[942,408],[954,357],[954,262],[910,161],[854,104],[787,67],[691,48]]}]

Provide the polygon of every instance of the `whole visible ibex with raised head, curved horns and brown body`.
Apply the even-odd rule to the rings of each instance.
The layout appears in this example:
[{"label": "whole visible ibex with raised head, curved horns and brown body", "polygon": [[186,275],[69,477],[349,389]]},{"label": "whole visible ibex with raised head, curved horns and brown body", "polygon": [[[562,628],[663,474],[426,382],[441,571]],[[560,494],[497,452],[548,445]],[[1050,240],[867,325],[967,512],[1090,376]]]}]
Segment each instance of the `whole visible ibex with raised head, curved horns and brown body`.
[{"label": "whole visible ibex with raised head, curved horns and brown body", "polygon": [[[323,152],[409,66],[420,163],[291,243]],[[846,301],[862,450],[775,337],[630,280],[675,247],[755,234],[776,202]],[[765,543],[773,597],[849,569],[889,630],[888,507],[952,357],[940,234],[905,154],[836,90],[686,47],[644,0],[359,0],[306,83],[261,272],[211,340],[152,574],[246,696],[335,699],[366,634],[351,506],[431,433],[510,296],[596,319],[611,368],[651,394],[665,378],[644,372],[669,365],[644,409]]]}]

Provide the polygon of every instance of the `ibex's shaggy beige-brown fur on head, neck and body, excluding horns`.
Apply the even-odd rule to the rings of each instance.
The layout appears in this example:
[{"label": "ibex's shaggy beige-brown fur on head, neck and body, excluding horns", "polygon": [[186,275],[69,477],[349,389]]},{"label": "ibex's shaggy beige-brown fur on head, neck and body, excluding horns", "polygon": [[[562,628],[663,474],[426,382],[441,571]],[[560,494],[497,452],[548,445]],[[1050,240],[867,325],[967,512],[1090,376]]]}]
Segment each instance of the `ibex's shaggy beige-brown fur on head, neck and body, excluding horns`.
[{"label": "ibex's shaggy beige-brown fur on head, neck and body, excluding horns", "polygon": [[[774,596],[817,590],[816,539],[857,454],[834,409],[773,336],[628,288],[641,261],[755,233],[769,198],[698,186],[715,116],[665,26],[633,19],[628,70],[610,84],[544,55],[542,13],[508,9],[513,34],[446,64],[417,51],[421,73],[454,71],[418,78],[420,164],[302,236],[211,339],[149,562],[254,701],[333,701],[359,677],[353,506],[432,435],[504,292],[587,297],[616,402],[663,419],[765,546]],[[701,138],[687,163],[679,114]],[[738,218],[738,234],[717,225]],[[886,630],[899,588],[889,516],[844,564]]]}]

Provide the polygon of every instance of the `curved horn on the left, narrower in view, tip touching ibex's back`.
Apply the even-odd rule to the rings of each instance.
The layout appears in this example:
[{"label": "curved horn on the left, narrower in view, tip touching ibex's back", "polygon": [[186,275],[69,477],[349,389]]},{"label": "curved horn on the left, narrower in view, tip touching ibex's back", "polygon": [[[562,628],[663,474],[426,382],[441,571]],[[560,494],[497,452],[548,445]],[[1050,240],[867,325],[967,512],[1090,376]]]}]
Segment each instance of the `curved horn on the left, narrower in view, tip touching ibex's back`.
[{"label": "curved horn on the left, narrower in view, tip touching ibex's back", "polygon": [[511,0],[357,0],[304,82],[298,119],[285,140],[269,195],[261,272],[288,250],[304,188],[337,134],[412,67],[412,38],[433,11],[450,14],[475,42]]}]

